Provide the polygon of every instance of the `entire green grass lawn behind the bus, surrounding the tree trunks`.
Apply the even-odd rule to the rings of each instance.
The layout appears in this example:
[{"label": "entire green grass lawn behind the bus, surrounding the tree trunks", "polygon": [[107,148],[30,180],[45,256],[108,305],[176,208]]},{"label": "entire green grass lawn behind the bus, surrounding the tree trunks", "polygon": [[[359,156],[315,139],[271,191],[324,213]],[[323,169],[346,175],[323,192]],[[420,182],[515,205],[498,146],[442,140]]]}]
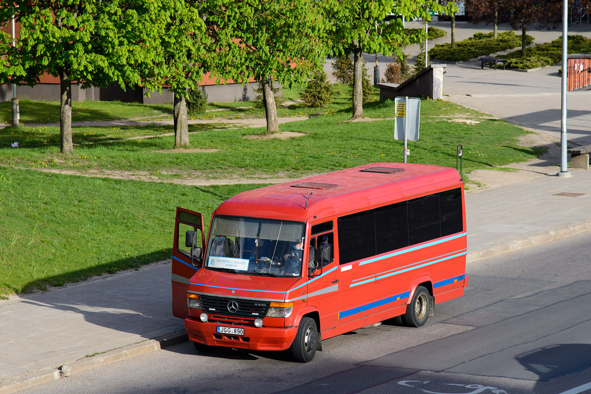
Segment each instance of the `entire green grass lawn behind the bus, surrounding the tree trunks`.
[{"label": "entire green grass lawn behind the bus, surrounding the tree trunks", "polygon": [[[248,179],[303,177],[368,162],[402,161],[403,142],[394,141],[392,120],[348,121],[347,89],[338,87],[329,108],[293,105],[285,109],[296,116],[311,115],[307,121],[280,126],[281,131],[304,133],[297,138],[248,139],[245,136],[264,134],[265,128],[229,129],[229,123],[215,123],[218,118],[190,125],[191,148],[218,149],[215,152],[156,152],[173,148],[174,137],[164,135],[172,128],[166,125],[74,127],[77,145],[71,156],[59,152],[57,127],[0,129],[0,228],[4,235],[0,237],[0,294],[63,285],[169,258],[176,206],[201,211],[209,221],[207,213],[223,200],[260,186],[191,187],[48,174],[33,168],[103,175],[141,172],[161,180]],[[299,90],[295,87],[284,93],[296,98]],[[100,104],[105,113],[126,113],[109,109],[109,103]],[[131,106],[135,109],[127,112],[129,117],[142,109],[154,110],[153,106]],[[226,108],[219,112],[236,109],[223,103],[213,106]],[[46,108],[37,117],[53,111]],[[372,102],[364,106],[364,112],[369,118],[391,118],[394,105]],[[254,109],[243,113],[264,116]],[[450,102],[423,100],[420,141],[408,143],[408,161],[454,167],[457,144],[464,147],[465,172],[525,161],[541,152],[518,145],[524,133],[517,126]],[[19,148],[10,147],[14,141]]]}]

